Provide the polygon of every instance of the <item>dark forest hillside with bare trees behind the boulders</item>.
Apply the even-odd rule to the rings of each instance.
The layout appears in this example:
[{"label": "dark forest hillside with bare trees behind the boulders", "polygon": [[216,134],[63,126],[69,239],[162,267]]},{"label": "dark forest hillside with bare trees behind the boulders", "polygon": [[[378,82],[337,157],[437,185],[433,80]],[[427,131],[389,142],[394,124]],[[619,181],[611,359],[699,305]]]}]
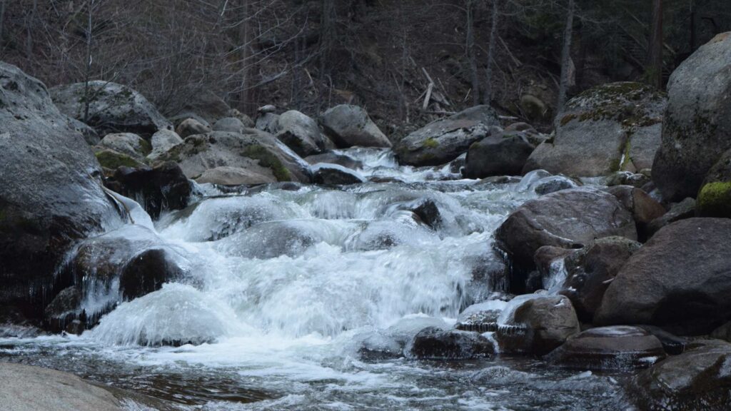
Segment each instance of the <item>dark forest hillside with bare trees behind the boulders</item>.
[{"label": "dark forest hillside with bare trees behind the boulders", "polygon": [[352,103],[397,139],[485,102],[548,129],[562,90],[662,87],[730,30],[731,0],[0,0],[0,58],[48,86],[124,83],[168,116]]}]

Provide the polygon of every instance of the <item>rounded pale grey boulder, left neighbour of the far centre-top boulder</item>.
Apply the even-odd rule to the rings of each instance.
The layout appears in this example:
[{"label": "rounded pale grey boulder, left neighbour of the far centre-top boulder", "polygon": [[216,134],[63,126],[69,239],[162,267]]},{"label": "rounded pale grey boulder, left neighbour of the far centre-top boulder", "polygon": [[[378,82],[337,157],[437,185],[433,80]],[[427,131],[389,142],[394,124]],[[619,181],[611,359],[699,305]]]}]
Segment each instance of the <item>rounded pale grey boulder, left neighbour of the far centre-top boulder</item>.
[{"label": "rounded pale grey boulder, left neighbour of the far centre-top boulder", "polygon": [[282,113],[279,116],[277,130],[276,137],[301,157],[319,154],[335,147],[330,139],[319,131],[317,121],[297,110]]}]

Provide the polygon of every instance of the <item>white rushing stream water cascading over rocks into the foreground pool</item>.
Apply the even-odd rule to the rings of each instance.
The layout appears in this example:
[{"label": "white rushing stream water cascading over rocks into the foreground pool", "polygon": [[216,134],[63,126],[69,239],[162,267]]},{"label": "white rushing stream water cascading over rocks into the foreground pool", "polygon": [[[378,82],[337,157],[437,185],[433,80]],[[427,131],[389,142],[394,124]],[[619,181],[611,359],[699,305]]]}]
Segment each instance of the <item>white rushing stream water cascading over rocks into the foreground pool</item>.
[{"label": "white rushing stream water cascading over rocks into the foreground pool", "polygon": [[[491,294],[492,233],[534,198],[512,184],[398,167],[390,151],[343,151],[385,183],[272,186],[200,198],[154,225],[188,273],[121,303],[82,336],[0,339],[0,356],[132,388],[191,410],[619,410],[622,375],[498,357],[408,358]],[[429,227],[411,209],[430,200]],[[138,224],[152,227],[137,212]],[[123,227],[112,235],[135,235]],[[497,279],[499,280],[499,279]],[[84,304],[105,306],[108,290]],[[190,341],[181,347],[160,342]],[[364,355],[363,349],[377,352]]]}]

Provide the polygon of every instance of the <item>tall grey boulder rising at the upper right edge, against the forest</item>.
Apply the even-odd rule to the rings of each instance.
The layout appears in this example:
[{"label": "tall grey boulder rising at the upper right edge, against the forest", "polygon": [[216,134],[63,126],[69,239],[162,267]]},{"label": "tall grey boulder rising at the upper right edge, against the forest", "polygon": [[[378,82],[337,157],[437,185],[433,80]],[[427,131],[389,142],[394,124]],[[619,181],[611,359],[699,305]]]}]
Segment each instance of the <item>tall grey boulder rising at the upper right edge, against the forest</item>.
[{"label": "tall grey boulder rising at the upper right edge, against the forest", "polygon": [[708,170],[731,148],[731,32],[675,69],[652,178],[668,201],[695,197]]}]

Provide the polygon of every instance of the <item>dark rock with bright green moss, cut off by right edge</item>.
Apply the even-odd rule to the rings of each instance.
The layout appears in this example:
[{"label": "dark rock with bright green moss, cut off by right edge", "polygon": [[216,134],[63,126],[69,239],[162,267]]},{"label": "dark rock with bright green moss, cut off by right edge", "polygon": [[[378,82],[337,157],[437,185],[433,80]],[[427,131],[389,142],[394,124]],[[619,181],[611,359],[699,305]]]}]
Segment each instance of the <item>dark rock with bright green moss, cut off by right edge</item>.
[{"label": "dark rock with bright green moss, cut off by right edge", "polygon": [[726,151],[711,167],[698,192],[697,215],[731,217],[731,150]]}]

